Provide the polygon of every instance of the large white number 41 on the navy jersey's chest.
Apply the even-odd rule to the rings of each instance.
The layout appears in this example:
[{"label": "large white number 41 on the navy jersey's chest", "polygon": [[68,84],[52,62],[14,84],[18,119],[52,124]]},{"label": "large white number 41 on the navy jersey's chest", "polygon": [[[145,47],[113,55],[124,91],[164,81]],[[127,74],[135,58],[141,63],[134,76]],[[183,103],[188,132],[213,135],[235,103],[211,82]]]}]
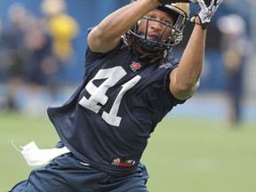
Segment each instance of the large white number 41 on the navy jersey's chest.
[{"label": "large white number 41 on the navy jersey's chest", "polygon": [[[84,108],[92,110],[94,113],[100,111],[100,105],[105,105],[108,101],[108,96],[106,92],[110,87],[113,87],[120,79],[126,75],[124,68],[118,66],[114,68],[100,69],[99,72],[92,78],[92,80],[86,84],[85,89],[91,94],[89,99],[83,97],[79,104]],[[124,93],[132,89],[132,87],[140,81],[140,76],[134,76],[130,81],[123,84],[122,89],[116,96],[116,100],[113,103],[109,113],[103,111],[101,117],[108,123],[114,126],[119,126],[122,117],[117,116],[118,109],[120,107],[121,100],[124,96]],[[93,84],[94,80],[104,80],[100,86]]]}]

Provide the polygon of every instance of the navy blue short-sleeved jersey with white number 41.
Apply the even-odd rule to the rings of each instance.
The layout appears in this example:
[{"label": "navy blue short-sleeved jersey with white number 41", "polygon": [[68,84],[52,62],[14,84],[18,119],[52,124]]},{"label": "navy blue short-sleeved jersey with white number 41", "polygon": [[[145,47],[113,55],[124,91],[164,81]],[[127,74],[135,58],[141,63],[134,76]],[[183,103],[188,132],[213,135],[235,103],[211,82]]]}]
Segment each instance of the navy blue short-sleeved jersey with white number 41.
[{"label": "navy blue short-sleeved jersey with white number 41", "polygon": [[115,50],[85,56],[84,82],[60,108],[48,108],[60,139],[84,163],[109,173],[135,168],[150,133],[173,106],[170,72],[179,60],[148,64],[122,39]]}]

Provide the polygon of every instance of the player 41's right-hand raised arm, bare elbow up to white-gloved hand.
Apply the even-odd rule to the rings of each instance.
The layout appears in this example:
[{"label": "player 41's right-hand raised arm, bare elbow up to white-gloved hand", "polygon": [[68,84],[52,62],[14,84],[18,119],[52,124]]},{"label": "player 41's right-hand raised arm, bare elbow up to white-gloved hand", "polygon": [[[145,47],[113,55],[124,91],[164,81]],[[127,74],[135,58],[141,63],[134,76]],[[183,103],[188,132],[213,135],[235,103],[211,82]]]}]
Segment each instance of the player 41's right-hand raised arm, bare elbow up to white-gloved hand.
[{"label": "player 41's right-hand raised arm, bare elbow up to white-gloved hand", "polygon": [[172,70],[170,90],[180,99],[188,99],[196,92],[204,63],[206,28],[222,0],[197,0],[200,10],[192,18],[195,28],[180,60],[178,68]]}]

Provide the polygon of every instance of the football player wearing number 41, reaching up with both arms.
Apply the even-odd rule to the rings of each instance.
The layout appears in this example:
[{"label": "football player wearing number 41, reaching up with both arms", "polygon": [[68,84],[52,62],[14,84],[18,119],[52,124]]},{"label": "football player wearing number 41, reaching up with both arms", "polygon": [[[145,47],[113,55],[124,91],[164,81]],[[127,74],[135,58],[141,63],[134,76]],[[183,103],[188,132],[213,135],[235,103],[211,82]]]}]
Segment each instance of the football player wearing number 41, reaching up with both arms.
[{"label": "football player wearing number 41, reaching up with both arms", "polygon": [[140,157],[156,125],[196,92],[206,28],[221,0],[197,0],[179,60],[172,48],[182,40],[188,2],[132,1],[90,29],[83,83],[65,105],[47,111],[60,135],[57,148],[68,152],[12,191],[148,191]]}]

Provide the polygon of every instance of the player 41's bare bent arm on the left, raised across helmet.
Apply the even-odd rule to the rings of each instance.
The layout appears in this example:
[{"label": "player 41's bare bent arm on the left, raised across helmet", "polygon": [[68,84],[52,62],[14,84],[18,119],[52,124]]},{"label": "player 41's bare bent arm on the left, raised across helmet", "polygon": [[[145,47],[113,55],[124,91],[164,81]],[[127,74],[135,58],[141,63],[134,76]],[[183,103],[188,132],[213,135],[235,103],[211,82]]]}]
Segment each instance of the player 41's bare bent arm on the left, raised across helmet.
[{"label": "player 41's bare bent arm on the left, raised across helmet", "polygon": [[[103,51],[114,48],[118,44],[120,36],[159,4],[157,0],[138,0],[118,9],[102,20],[96,28],[93,28],[90,35],[92,38],[88,37],[88,44],[94,46],[95,49],[103,49]],[[104,47],[105,45],[106,47]]]}]

